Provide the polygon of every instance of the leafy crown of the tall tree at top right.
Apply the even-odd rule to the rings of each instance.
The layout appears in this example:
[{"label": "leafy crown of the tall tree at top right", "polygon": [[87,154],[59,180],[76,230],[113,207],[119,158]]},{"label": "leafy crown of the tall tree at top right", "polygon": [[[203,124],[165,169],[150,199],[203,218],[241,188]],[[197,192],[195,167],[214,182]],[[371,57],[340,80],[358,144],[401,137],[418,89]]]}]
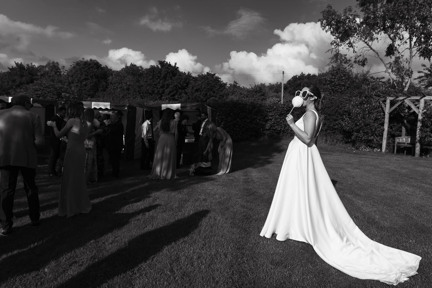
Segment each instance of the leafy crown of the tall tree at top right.
[{"label": "leafy crown of the tall tree at top right", "polygon": [[[365,66],[368,57],[384,65],[391,82],[407,91],[414,57],[432,57],[432,2],[430,0],[357,0],[361,15],[349,6],[339,13],[327,5],[321,27],[334,36],[333,47],[346,46],[354,63]],[[385,44],[385,51],[375,47]],[[384,57],[391,57],[387,62]]]}]

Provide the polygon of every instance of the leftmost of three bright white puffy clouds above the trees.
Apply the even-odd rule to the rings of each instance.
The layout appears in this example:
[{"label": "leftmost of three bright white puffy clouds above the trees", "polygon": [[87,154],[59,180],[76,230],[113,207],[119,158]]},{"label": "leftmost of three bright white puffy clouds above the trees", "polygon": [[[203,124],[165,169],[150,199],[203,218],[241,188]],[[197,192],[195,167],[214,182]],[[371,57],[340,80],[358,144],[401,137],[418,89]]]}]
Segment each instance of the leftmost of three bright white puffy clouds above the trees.
[{"label": "leftmost of three bright white puffy clouds above the trees", "polygon": [[141,51],[134,51],[130,48],[123,47],[120,49],[111,49],[108,51],[108,56],[98,57],[95,55],[85,55],[84,59],[98,60],[102,65],[106,65],[114,70],[120,70],[126,64],[134,63],[147,68],[151,65],[156,65],[154,60],[146,60],[146,56]]}]

